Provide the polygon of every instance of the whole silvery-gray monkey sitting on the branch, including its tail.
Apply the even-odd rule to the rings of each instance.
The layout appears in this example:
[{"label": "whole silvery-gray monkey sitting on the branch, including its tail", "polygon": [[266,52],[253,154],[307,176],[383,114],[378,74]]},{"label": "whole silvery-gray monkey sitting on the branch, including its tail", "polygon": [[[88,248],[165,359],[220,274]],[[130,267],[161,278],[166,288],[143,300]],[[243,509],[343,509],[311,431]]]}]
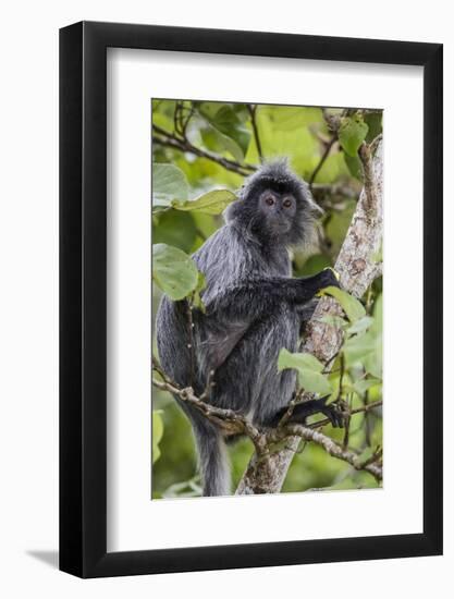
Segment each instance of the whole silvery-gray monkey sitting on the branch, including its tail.
[{"label": "whole silvery-gray monkey sitting on the branch, including its tail", "polygon": [[[226,209],[225,224],[194,254],[207,286],[206,314],[193,311],[194,368],[187,304],[163,296],[157,316],[161,366],[179,386],[196,394],[214,370],[209,402],[246,414],[254,424],[274,426],[295,390],[295,371],[278,372],[282,347],[297,351],[302,321],[314,310],[322,288],[338,285],[331,270],[293,279],[287,248],[310,241],[318,207],[309,190],[285,161],[263,166],[248,178]],[[197,443],[205,496],[230,493],[230,468],[221,431],[177,398]],[[324,401],[295,409],[332,416]]]}]

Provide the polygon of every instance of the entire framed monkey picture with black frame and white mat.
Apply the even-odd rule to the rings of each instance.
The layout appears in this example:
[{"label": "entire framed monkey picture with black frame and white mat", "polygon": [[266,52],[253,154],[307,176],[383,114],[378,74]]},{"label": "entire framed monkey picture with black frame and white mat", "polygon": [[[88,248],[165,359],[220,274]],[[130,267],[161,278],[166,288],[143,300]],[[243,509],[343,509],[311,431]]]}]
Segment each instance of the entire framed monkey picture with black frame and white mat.
[{"label": "entire framed monkey picture with black frame and white mat", "polygon": [[59,62],[60,570],[441,554],[442,45],[79,22]]}]

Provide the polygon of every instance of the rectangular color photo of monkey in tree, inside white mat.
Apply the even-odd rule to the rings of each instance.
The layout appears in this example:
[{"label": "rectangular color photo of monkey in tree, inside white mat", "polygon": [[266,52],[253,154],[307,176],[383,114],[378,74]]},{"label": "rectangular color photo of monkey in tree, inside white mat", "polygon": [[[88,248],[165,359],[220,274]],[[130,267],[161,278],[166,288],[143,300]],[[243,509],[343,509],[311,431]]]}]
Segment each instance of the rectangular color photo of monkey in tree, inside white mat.
[{"label": "rectangular color photo of monkey in tree, inside white mat", "polygon": [[152,500],[380,488],[382,110],[151,100]]}]

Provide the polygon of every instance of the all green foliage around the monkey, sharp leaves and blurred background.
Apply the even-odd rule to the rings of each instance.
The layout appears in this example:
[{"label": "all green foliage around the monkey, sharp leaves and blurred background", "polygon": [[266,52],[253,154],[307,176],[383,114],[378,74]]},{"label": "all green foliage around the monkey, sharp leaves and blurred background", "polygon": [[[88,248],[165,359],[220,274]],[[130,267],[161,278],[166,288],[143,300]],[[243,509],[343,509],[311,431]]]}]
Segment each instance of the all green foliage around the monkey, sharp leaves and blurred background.
[{"label": "all green foliage around the monkey, sharp leaves and blurred background", "polygon": [[[205,282],[191,254],[222,225],[221,212],[235,200],[243,173],[253,172],[260,157],[267,160],[286,156],[306,181],[315,174],[312,193],[324,209],[318,228],[319,243],[292,254],[293,274],[309,276],[334,265],[361,187],[358,148],[381,132],[382,115],[381,111],[328,110],[340,117],[341,127],[339,140],[320,162],[332,136],[321,108],[189,100],[152,102],[154,319],[162,293],[173,300],[189,297],[203,308],[199,293]],[[199,151],[177,148],[167,143],[169,138],[184,140],[186,148],[192,145]],[[381,260],[381,253],[377,260]],[[336,288],[323,291],[340,303],[345,315],[328,317],[328,323],[341,326],[344,334],[331,372],[326,372],[314,356],[285,350],[277,368],[295,368],[300,388],[315,394],[329,393],[330,401],[342,398],[352,409],[381,400],[381,281],[376,281],[361,298]],[[194,441],[186,417],[169,393],[157,389],[154,408],[152,497],[199,494]],[[158,431],[156,418],[160,421],[156,426],[162,425]],[[343,430],[327,426],[323,431],[342,444]],[[352,451],[366,456],[381,443],[379,408],[353,417],[348,440]],[[230,448],[234,485],[253,450],[248,439]],[[295,455],[283,491],[375,486],[377,482],[367,473],[354,470],[309,443]]]}]

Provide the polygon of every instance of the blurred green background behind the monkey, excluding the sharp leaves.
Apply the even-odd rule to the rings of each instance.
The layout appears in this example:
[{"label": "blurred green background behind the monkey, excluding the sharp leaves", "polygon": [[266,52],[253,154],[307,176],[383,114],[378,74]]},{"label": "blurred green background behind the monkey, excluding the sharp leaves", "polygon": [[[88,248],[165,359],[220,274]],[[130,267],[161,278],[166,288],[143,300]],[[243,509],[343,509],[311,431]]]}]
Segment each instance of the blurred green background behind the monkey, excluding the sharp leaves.
[{"label": "blurred green background behind the monkey, excluding the sharp leaves", "polygon": [[[381,132],[380,111],[154,100],[152,243],[165,243],[192,254],[223,224],[221,215],[175,209],[169,204],[162,209],[155,194],[158,176],[160,191],[163,190],[169,197],[191,200],[211,190],[230,190],[235,193],[244,175],[253,172],[253,168],[260,161],[285,156],[293,170],[310,183],[316,201],[324,210],[318,223],[317,243],[305,253],[292,254],[294,274],[311,274],[326,266],[332,266],[363,184],[356,150],[351,151],[333,138],[323,118],[323,110],[324,115],[348,115],[354,124],[361,127],[367,142]],[[162,181],[161,174],[169,172],[172,176]],[[363,298],[370,320],[375,318],[377,321],[377,339],[378,335],[381,339],[381,278],[376,280]],[[154,322],[160,296],[161,291],[154,283]],[[370,337],[370,331],[368,334]],[[377,352],[381,352],[378,343]],[[156,340],[154,354],[157,355]],[[346,364],[342,395],[352,407],[381,400],[381,355],[377,353],[372,357],[376,365],[371,368],[366,360],[361,364],[360,359]],[[339,364],[334,364],[330,379],[338,388],[339,371]],[[358,381],[363,383],[358,384]],[[200,494],[189,423],[170,394],[155,388],[152,408],[152,498]],[[340,443],[345,441],[342,430],[326,426],[323,431]],[[371,411],[367,416],[353,416],[347,442],[352,451],[365,459],[380,448],[381,409]],[[248,440],[244,440],[230,447],[229,451],[234,489],[253,453],[253,447]],[[376,486],[376,480],[369,474],[354,470],[315,444],[302,444],[293,460],[283,492]]]}]

